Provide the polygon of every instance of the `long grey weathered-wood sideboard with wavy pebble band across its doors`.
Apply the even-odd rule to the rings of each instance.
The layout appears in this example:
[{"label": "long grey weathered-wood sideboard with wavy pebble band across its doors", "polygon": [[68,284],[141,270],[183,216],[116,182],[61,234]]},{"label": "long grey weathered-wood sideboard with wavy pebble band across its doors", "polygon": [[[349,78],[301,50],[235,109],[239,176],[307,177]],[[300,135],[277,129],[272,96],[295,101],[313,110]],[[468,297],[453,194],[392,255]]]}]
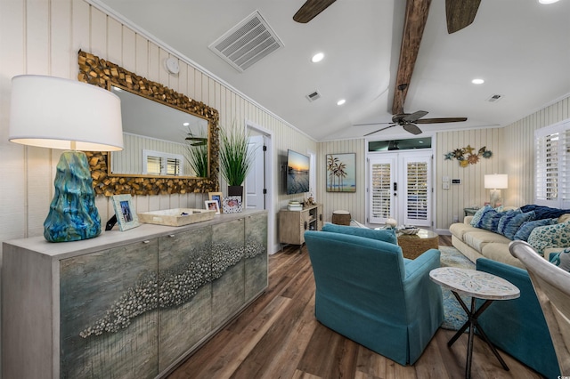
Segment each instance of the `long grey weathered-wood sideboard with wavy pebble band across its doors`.
[{"label": "long grey weathered-wood sideboard with wavy pebble band across its doors", "polygon": [[267,287],[267,214],[4,242],[2,371],[165,376]]}]

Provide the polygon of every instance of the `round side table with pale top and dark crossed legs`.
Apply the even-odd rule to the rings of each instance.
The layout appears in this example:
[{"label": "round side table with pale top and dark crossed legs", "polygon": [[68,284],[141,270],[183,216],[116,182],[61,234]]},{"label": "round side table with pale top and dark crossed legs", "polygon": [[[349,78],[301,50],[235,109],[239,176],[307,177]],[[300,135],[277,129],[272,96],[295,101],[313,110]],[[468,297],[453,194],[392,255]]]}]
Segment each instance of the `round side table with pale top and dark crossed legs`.
[{"label": "round side table with pale top and dark crossed legs", "polygon": [[[460,269],[456,267],[440,267],[439,269],[429,271],[431,278],[438,285],[449,288],[455,298],[460,302],[461,308],[465,310],[468,320],[460,327],[460,330],[453,335],[447,346],[451,347],[455,341],[463,335],[463,332],[469,328],[468,344],[467,344],[467,364],[465,367],[465,377],[471,377],[471,359],[473,358],[473,336],[475,328],[479,331],[479,335],[483,337],[485,342],[493,351],[493,354],[501,362],[501,366],[509,371],[509,367],[499,355],[499,351],[495,349],[483,328],[478,324],[477,319],[491,305],[494,300],[516,299],[520,296],[520,290],[517,286],[509,281],[499,278],[493,274],[483,271]],[[471,309],[468,309],[460,294],[471,296]],[[485,302],[479,309],[476,309],[476,298],[485,299]]]}]

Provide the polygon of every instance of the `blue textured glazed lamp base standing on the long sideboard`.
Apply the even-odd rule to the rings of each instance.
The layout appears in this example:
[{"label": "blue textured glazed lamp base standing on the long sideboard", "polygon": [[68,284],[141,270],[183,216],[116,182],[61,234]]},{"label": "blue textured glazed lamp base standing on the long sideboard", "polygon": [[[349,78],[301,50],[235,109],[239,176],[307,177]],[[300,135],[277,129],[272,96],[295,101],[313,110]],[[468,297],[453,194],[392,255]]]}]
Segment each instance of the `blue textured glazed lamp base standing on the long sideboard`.
[{"label": "blue textured glazed lamp base standing on the long sideboard", "polygon": [[83,151],[65,151],[57,164],[55,194],[44,222],[50,242],[69,242],[101,234],[101,218],[87,157]]}]

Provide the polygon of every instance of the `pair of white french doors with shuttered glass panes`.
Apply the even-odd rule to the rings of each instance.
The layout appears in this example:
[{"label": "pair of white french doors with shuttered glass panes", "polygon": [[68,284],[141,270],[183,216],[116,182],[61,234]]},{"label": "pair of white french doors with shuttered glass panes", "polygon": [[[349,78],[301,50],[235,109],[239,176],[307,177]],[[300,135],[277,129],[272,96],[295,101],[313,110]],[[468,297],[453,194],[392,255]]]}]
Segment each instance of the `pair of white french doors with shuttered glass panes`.
[{"label": "pair of white french doors with shuttered glass panes", "polygon": [[368,221],[432,226],[431,151],[369,155]]}]

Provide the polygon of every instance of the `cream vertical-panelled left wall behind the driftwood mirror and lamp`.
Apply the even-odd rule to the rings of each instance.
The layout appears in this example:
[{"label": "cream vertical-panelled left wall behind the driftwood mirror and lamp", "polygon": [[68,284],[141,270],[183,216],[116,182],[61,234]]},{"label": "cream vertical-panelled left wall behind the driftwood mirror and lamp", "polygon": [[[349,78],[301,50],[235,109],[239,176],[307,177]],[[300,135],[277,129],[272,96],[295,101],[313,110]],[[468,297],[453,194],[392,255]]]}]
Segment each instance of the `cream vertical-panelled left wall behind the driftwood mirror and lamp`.
[{"label": "cream vertical-panelled left wall behind the driftwood mirror and lamp", "polygon": [[[274,209],[289,197],[281,191],[278,158],[295,146],[299,151],[317,150],[316,141],[281,118],[248,100],[232,88],[191,64],[191,57],[176,56],[119,20],[83,0],[0,1],[0,240],[42,235],[43,223],[53,198],[55,166],[61,152],[29,148],[7,141],[11,78],[21,74],[77,78],[77,52],[91,52],[102,59],[147,77],[152,81],[203,101],[220,112],[221,127],[248,120],[273,136]],[[172,76],[162,62],[179,60],[180,73]],[[80,127],[80,120],[77,120]],[[285,153],[283,153],[285,152]],[[220,188],[225,192],[225,184]],[[203,208],[208,194],[135,197],[138,212],[175,207]],[[105,222],[113,214],[109,198],[97,197],[96,205]],[[272,215],[270,215],[272,217]],[[273,214],[276,225],[277,212]],[[270,241],[270,246],[277,242]]]}]

